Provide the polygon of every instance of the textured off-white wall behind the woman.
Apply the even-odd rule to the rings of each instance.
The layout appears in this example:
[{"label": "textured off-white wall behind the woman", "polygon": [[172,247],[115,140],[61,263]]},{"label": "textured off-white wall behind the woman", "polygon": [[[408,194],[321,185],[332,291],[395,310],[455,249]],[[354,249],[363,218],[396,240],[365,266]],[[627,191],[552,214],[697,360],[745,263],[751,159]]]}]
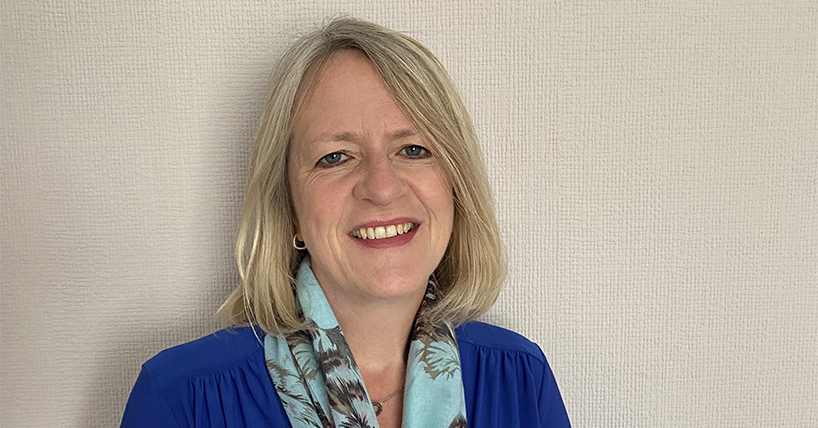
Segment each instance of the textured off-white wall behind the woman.
[{"label": "textured off-white wall behind the woman", "polygon": [[115,426],[214,328],[269,70],[344,13],[461,88],[511,264],[486,318],[575,426],[816,426],[816,3],[375,3],[0,1],[0,425]]}]

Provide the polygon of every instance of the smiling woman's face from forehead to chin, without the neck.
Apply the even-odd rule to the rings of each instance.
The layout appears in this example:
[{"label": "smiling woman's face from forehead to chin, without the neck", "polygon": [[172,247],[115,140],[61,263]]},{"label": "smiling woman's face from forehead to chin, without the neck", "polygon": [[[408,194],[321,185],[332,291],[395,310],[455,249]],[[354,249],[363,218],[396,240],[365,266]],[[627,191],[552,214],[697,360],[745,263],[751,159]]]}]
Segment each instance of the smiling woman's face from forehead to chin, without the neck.
[{"label": "smiling woman's face from forehead to chin, without the neck", "polygon": [[295,122],[288,174],[330,303],[419,301],[452,233],[452,186],[362,53],[325,64]]}]

